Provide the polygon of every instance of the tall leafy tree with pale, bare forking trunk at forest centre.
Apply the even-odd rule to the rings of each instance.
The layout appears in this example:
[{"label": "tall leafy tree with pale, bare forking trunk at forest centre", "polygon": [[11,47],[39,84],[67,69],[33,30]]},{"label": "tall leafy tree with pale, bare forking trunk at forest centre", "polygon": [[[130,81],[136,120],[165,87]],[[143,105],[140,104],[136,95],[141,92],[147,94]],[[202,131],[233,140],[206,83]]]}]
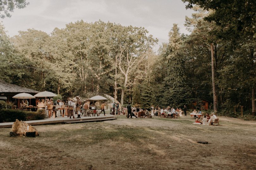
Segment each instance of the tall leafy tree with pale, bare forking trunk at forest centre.
[{"label": "tall leafy tree with pale, bare forking trunk at forest centre", "polygon": [[121,104],[123,105],[131,71],[138,66],[145,57],[145,52],[157,42],[157,39],[154,39],[152,35],[147,36],[148,31],[142,27],[117,25],[116,30],[119,32],[117,39],[120,42],[118,68],[124,78],[121,92]]}]

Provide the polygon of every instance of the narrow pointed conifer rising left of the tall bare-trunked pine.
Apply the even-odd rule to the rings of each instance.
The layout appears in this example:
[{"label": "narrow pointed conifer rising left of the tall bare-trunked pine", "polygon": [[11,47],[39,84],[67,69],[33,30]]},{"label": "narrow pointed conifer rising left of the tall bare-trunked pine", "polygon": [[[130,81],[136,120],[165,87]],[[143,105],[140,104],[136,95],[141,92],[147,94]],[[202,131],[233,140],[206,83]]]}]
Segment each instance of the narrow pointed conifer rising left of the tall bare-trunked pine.
[{"label": "narrow pointed conifer rising left of the tall bare-trunked pine", "polygon": [[167,77],[166,82],[171,87],[180,87],[184,79],[184,70],[182,67],[182,57],[179,50],[182,44],[181,35],[177,24],[169,32],[169,43],[167,50]]}]

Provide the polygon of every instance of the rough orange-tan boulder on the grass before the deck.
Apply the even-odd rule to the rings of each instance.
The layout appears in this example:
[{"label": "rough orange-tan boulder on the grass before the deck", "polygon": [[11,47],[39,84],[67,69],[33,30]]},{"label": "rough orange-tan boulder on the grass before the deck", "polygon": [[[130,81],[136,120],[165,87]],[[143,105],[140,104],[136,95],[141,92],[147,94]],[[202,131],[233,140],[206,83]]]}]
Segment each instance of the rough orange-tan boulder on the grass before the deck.
[{"label": "rough orange-tan boulder on the grass before the deck", "polygon": [[13,123],[12,131],[19,136],[25,136],[26,132],[36,132],[36,136],[39,136],[37,130],[33,126],[29,126],[26,122],[19,121],[18,119]]}]

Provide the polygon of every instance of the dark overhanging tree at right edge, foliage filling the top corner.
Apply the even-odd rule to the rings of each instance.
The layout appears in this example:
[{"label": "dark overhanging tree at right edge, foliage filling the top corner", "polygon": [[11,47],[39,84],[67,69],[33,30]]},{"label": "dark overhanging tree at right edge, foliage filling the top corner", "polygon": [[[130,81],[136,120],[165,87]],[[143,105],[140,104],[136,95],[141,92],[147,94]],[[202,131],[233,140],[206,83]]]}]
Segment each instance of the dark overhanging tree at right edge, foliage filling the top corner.
[{"label": "dark overhanging tree at right edge, foliage filling the top corner", "polygon": [[252,68],[250,74],[250,86],[252,96],[252,113],[256,113],[255,105],[255,33],[256,33],[256,3],[254,0],[237,0],[237,1],[222,1],[222,0],[183,0],[189,2],[186,8],[192,8],[193,4],[199,5],[206,10],[212,9],[214,13],[205,18],[208,21],[215,21],[217,25],[222,27],[219,35],[223,38],[233,39],[241,37],[245,42],[249,42],[250,59],[248,67]]}]

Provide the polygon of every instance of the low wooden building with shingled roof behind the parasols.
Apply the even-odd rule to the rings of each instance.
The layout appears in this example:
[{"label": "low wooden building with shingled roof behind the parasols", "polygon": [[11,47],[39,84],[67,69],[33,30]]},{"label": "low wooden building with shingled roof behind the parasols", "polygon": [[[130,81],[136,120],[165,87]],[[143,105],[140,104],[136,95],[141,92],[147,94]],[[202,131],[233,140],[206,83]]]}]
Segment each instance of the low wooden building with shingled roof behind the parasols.
[{"label": "low wooden building with shingled roof behind the parasols", "polygon": [[[29,88],[24,88],[24,87],[10,84],[3,80],[0,80],[0,97],[2,98],[6,97],[5,99],[7,102],[14,102],[15,99],[12,97],[18,93],[29,93],[34,96],[36,93],[39,93],[39,91],[32,90]],[[16,99],[16,100],[17,100],[17,106],[19,107],[21,103],[21,99]],[[35,99],[27,99],[27,101],[29,102],[29,105],[36,104]]]}]

